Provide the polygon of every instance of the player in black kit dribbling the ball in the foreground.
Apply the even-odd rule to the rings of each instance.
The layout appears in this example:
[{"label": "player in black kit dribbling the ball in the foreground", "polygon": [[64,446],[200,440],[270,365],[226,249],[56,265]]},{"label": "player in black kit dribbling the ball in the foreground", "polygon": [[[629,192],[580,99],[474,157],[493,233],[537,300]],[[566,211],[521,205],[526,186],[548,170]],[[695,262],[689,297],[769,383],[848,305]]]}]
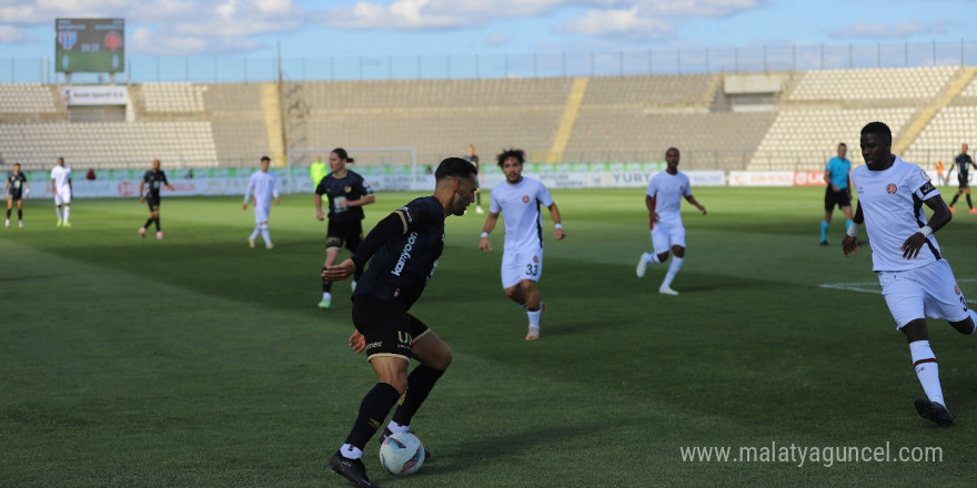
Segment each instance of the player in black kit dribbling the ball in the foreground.
[{"label": "player in black kit dribbling the ball in the foreground", "polygon": [[[407,430],[451,364],[447,345],[407,312],[434,275],[444,250],[444,220],[464,214],[475,200],[479,180],[475,166],[461,157],[442,161],[434,179],[434,195],[387,215],[370,231],[355,256],[322,272],[324,279],[345,279],[370,262],[353,292],[356,331],[350,347],[366,352],[377,383],[363,397],[345,444],[329,460],[330,469],[357,487],[376,486],[366,477],[361,457],[391,408],[397,405],[384,435]],[[407,376],[412,357],[421,364]]]}]

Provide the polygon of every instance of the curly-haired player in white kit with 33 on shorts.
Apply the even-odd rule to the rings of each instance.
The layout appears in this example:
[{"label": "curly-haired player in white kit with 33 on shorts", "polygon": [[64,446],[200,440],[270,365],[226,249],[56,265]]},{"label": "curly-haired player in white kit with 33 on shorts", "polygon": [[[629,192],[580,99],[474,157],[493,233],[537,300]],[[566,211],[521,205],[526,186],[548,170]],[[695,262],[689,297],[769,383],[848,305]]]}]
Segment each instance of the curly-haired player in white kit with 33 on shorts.
[{"label": "curly-haired player in white kit with 33 on shorts", "polygon": [[540,181],[522,175],[525,153],[511,149],[498,154],[496,160],[505,173],[505,181],[492,187],[488,216],[479,247],[486,253],[492,251],[488,233],[495,228],[501,212],[505,223],[502,287],[507,297],[526,309],[530,318],[526,340],[535,340],[540,338],[540,316],[543,314],[543,299],[536,287],[543,274],[543,214],[540,205],[550,209],[550,217],[556,226],[554,237],[560,241],[565,234],[560,209],[553,203],[550,191]]}]

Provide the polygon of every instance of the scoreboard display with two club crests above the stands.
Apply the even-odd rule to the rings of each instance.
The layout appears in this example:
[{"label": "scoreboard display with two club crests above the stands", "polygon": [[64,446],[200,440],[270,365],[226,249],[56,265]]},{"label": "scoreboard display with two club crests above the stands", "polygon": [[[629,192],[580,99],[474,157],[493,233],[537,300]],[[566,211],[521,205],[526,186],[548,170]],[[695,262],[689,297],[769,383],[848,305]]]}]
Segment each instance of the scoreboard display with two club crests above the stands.
[{"label": "scoreboard display with two club crests above the stands", "polygon": [[125,19],[56,19],[59,73],[125,71]]}]

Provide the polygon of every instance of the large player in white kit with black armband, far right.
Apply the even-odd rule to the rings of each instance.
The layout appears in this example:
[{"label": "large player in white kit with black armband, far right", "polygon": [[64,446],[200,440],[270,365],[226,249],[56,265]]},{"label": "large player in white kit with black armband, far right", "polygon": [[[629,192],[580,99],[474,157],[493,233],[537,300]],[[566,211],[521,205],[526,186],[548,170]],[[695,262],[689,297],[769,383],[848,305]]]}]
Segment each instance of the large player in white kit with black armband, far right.
[{"label": "large player in white kit with black armband, far right", "polygon": [[[941,426],[953,424],[946,408],[936,356],[929,346],[926,316],[947,321],[970,335],[977,314],[968,309],[950,265],[940,255],[934,233],[951,217],[939,191],[921,167],[892,153],[893,134],[882,122],[862,129],[865,165],[852,171],[858,207],[842,242],[846,256],[858,251],[858,227],[864,222],[872,246],[872,268],[882,293],[909,342],[916,376],[928,399],[916,400],[916,411]],[[931,211],[927,222],[923,204]]]}]

